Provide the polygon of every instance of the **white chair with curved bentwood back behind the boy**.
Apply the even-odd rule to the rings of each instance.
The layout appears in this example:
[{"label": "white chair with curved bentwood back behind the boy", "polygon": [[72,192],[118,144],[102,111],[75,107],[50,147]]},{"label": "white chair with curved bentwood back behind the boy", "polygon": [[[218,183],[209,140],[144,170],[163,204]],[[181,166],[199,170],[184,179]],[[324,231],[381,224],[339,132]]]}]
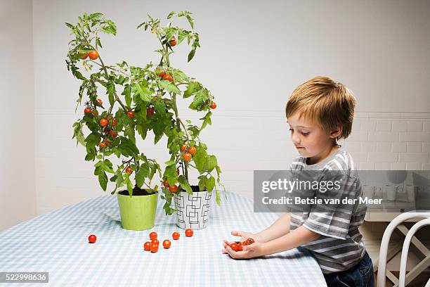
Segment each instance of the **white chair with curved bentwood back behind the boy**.
[{"label": "white chair with curved bentwood back behind the boy", "polygon": [[[405,242],[403,243],[403,250],[402,250],[402,257],[400,260],[400,280],[396,282],[396,279],[394,279],[394,283],[397,286],[399,284],[400,286],[405,286],[405,283],[409,283],[414,279],[419,273],[421,273],[424,269],[429,267],[430,265],[430,250],[427,249],[421,242],[417,240],[417,238],[414,238],[412,240],[412,237],[414,236],[415,232],[420,229],[421,227],[424,227],[425,225],[430,225],[430,211],[412,211],[412,212],[405,212],[401,215],[398,215],[396,218],[393,219],[393,221],[390,222],[388,227],[386,227],[384,231],[384,236],[382,236],[382,242],[381,242],[381,249],[379,250],[379,264],[378,264],[378,277],[377,277],[377,287],[384,287],[385,286],[385,280],[386,280],[386,257],[387,252],[389,248],[389,241],[391,238],[391,234],[393,234],[393,231],[398,227],[398,225],[402,224],[403,222],[416,218],[416,217],[424,217],[427,219],[421,220],[417,222],[411,229],[408,231],[408,234],[406,235]],[[424,253],[426,256],[424,260],[419,262],[417,266],[415,266],[413,269],[410,270],[408,273],[408,276],[406,276],[406,261],[408,257],[408,250],[410,241],[414,245],[419,248],[419,250]],[[429,281],[430,282],[430,281]],[[429,285],[427,283],[426,285]]]}]

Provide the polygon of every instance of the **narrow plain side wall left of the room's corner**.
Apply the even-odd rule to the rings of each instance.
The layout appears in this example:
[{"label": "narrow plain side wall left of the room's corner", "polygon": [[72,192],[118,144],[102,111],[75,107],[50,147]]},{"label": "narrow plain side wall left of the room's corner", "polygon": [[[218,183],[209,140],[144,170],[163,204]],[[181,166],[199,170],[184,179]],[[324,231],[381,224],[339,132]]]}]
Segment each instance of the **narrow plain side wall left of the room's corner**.
[{"label": "narrow plain side wall left of the room's corner", "polygon": [[0,1],[0,231],[36,215],[32,1]]}]

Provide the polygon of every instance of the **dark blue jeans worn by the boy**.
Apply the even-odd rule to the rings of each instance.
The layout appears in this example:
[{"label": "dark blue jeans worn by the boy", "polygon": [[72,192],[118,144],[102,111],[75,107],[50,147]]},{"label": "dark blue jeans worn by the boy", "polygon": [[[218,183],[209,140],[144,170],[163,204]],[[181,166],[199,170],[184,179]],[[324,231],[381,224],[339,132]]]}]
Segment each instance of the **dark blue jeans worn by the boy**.
[{"label": "dark blue jeans worn by the boy", "polygon": [[324,274],[328,287],[373,287],[373,264],[367,251],[363,259],[348,270]]}]

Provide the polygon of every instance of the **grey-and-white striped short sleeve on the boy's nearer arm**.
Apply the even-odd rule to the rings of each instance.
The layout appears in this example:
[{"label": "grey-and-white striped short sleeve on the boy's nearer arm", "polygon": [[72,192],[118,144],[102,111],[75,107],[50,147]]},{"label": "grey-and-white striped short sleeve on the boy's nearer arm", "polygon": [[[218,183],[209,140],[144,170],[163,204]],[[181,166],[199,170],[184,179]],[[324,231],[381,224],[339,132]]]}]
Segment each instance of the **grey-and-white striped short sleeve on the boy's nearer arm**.
[{"label": "grey-and-white striped short sleeve on the boy's nearer arm", "polygon": [[[359,188],[357,178],[345,172],[332,171],[320,179],[323,182],[332,181],[339,189],[315,191],[315,198],[323,201],[322,204],[313,204],[304,227],[324,236],[345,239],[350,227],[351,215],[356,200],[356,189]],[[337,184],[337,185],[336,185]]]}]

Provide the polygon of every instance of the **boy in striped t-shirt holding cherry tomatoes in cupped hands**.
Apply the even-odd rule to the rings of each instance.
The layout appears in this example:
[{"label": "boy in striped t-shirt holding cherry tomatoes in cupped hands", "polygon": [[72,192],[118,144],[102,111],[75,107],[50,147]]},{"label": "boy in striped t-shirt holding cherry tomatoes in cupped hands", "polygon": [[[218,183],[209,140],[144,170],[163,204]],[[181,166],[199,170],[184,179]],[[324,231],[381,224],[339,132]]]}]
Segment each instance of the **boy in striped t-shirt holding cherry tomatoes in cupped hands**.
[{"label": "boy in striped t-shirt holding cherry tomatoes in cupped hands", "polygon": [[[360,179],[351,155],[337,140],[351,134],[355,105],[356,98],[343,84],[315,77],[293,91],[285,108],[291,139],[300,154],[291,169],[339,171],[348,186],[341,192],[352,198],[363,195]],[[331,212],[323,212],[324,208],[315,205],[304,212],[287,212],[257,234],[232,231],[242,241],[254,238],[256,242],[235,252],[225,241],[222,252],[239,259],[302,246],[315,256],[328,286],[373,286],[372,260],[358,230],[367,206],[354,204],[349,210]]]}]

